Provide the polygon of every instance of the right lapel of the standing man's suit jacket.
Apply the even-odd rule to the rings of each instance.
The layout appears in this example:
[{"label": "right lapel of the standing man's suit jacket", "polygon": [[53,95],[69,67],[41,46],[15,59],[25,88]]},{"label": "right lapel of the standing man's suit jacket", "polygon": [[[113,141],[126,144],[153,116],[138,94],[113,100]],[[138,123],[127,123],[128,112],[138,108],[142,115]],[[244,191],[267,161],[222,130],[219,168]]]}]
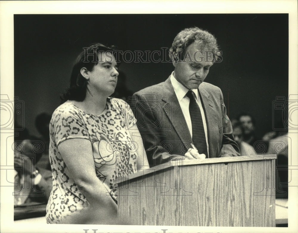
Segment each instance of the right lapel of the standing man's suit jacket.
[{"label": "right lapel of the standing man's suit jacket", "polygon": [[[204,84],[201,83],[198,90],[201,96],[202,105],[204,107],[205,119],[207,123],[209,157],[217,154],[217,148],[214,145],[218,144],[218,113],[215,110],[215,105],[210,98],[209,93],[204,89]],[[212,156],[213,157],[213,156]]]}]

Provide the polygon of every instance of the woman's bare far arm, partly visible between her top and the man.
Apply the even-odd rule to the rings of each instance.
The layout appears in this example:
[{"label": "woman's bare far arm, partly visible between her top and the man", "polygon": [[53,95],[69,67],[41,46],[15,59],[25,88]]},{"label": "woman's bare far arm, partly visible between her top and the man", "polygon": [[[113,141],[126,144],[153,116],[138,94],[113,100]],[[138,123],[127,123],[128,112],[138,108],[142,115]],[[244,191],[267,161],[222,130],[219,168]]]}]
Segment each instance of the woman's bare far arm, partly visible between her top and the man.
[{"label": "woman's bare far arm, partly visible between her top and the man", "polygon": [[143,170],[143,169],[148,169],[149,168],[149,163],[148,163],[148,159],[146,156],[146,151],[143,145],[143,140],[142,137],[139,133],[139,129],[136,126],[136,124],[134,124],[133,126],[131,126],[129,129],[129,133],[131,135],[131,140],[133,141],[135,148],[137,148],[136,153],[137,153],[137,169],[139,170]]}]

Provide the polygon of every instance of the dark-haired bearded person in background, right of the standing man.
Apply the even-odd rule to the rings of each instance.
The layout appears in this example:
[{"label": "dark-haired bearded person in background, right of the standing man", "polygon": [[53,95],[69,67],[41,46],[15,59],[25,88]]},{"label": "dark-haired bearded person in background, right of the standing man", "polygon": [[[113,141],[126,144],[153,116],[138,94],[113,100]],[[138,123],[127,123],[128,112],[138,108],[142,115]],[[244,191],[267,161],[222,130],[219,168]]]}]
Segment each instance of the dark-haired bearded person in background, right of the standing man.
[{"label": "dark-haired bearded person in background, right of the standing man", "polygon": [[238,115],[237,121],[239,121],[242,125],[243,142],[246,142],[249,145],[254,146],[254,143],[260,139],[257,138],[255,135],[256,121],[254,120],[252,115],[243,112],[240,115]]}]

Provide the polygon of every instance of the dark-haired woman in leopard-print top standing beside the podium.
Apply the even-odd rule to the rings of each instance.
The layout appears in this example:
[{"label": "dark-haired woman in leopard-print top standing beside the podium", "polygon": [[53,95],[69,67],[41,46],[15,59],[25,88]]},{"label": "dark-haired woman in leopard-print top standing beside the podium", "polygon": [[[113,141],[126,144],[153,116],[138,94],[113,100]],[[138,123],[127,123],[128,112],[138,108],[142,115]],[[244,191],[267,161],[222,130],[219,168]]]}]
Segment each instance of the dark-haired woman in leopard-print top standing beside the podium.
[{"label": "dark-haired woman in leopard-print top standing beside the podium", "polygon": [[130,107],[109,97],[118,76],[114,51],[100,43],[84,48],[52,115],[47,223],[115,224],[114,179],[148,166]]}]

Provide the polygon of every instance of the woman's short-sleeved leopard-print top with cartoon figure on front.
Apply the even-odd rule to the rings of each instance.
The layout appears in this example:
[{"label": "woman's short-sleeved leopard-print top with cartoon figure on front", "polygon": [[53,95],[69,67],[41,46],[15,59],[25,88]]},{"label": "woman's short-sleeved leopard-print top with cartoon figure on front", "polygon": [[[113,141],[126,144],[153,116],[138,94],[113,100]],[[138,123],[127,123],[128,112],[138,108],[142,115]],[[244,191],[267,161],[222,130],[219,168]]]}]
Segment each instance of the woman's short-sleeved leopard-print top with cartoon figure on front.
[{"label": "woman's short-sleeved leopard-print top with cartoon figure on front", "polygon": [[114,179],[136,172],[136,148],[128,132],[134,124],[136,119],[129,105],[117,98],[108,98],[105,110],[98,116],[84,112],[70,101],[54,111],[49,148],[53,188],[46,207],[47,223],[63,223],[63,219],[89,205],[69,174],[59,153],[59,143],[72,138],[90,140],[97,177],[111,198],[117,200]]}]

